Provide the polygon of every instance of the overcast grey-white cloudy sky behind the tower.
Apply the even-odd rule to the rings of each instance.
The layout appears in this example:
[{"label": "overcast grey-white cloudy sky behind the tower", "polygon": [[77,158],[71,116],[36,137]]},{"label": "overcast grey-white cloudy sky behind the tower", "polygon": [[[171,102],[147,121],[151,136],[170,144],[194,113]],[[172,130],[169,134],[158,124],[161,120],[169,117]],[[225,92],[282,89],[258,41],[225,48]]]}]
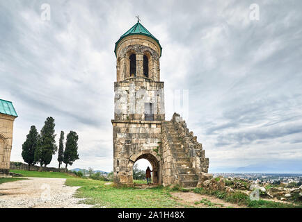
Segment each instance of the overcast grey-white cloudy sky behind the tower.
[{"label": "overcast grey-white cloudy sky behind the tower", "polygon": [[210,172],[302,173],[301,8],[300,0],[0,0],[0,98],[19,115],[11,160],[22,161],[30,126],[40,131],[51,116],[57,140],[61,130],[79,134],[70,169],[113,170],[114,44],[139,15],[163,47],[166,119],[182,111],[173,92],[188,89],[186,123]]}]

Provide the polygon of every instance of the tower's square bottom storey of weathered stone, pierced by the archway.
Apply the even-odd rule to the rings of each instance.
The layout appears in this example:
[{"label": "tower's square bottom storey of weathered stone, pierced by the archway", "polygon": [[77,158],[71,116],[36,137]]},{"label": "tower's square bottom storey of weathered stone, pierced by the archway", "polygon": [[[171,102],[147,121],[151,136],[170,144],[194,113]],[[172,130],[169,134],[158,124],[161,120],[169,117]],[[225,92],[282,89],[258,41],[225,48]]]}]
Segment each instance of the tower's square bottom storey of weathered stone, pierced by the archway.
[{"label": "tower's square bottom storey of weathered stone, pierced by the archway", "polygon": [[[161,182],[161,121],[112,121],[113,175],[117,183],[133,183],[134,162],[144,158],[152,164],[154,182]],[[153,174],[153,175],[154,175]]]}]

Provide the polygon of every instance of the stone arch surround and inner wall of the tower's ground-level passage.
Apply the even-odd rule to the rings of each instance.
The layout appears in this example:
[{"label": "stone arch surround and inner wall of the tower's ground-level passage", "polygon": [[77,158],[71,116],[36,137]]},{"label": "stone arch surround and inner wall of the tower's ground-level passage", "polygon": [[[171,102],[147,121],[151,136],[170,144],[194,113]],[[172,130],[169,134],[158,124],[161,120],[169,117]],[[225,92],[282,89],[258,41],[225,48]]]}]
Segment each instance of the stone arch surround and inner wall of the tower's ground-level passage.
[{"label": "stone arch surround and inner wall of the tower's ground-level passage", "polygon": [[[146,152],[146,151],[145,151]],[[131,167],[133,172],[134,164],[141,159],[148,160],[152,167],[152,183],[154,185],[161,185],[162,177],[161,177],[161,159],[154,151],[148,151],[148,153],[139,153],[136,155],[132,155],[129,160],[129,167]],[[132,175],[133,181],[133,175]]]}]

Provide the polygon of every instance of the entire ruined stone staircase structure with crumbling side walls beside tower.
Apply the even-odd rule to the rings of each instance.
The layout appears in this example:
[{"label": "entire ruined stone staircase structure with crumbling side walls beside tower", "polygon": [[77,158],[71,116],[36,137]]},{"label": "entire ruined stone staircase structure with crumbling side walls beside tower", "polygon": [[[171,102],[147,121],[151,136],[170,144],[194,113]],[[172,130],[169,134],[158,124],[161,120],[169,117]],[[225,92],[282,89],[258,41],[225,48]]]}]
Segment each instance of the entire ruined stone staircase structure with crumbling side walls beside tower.
[{"label": "entire ruined stone staircase structure with crumbling side walls beside tower", "polygon": [[171,121],[163,121],[163,185],[181,185],[196,187],[202,173],[207,173],[209,159],[205,158],[202,144],[186,128],[179,114],[173,114]]}]

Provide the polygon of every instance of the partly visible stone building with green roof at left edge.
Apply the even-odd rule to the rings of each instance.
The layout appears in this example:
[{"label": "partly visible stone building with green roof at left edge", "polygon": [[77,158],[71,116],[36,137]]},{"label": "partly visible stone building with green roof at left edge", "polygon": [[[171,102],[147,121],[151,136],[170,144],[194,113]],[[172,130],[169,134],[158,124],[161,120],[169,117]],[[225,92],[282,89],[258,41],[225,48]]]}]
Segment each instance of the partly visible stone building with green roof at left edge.
[{"label": "partly visible stone building with green roof at left edge", "polygon": [[0,99],[0,176],[7,176],[10,170],[13,124],[17,116],[13,103]]}]

